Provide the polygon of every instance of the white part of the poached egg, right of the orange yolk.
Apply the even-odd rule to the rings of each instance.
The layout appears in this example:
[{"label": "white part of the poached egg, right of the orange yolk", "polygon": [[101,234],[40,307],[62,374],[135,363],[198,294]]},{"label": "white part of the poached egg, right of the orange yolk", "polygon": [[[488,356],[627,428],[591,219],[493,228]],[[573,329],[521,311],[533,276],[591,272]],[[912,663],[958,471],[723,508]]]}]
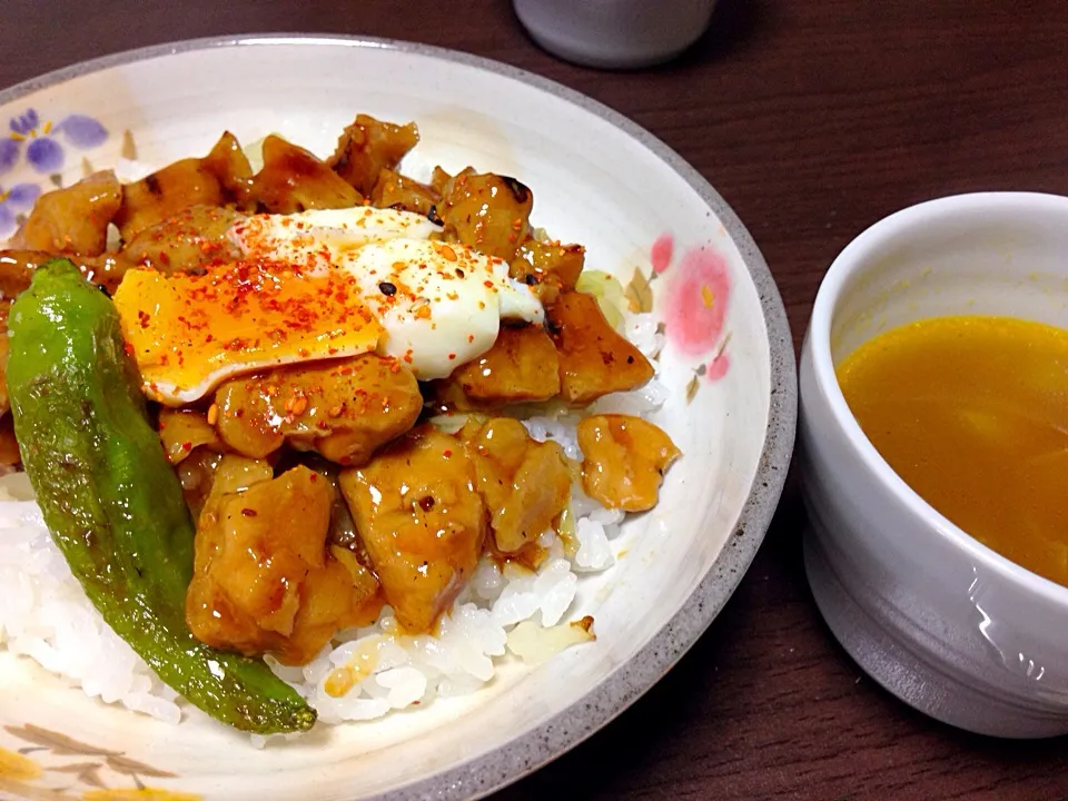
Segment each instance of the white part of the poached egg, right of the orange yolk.
[{"label": "white part of the poached egg, right of the orange yolk", "polygon": [[[429,380],[488,350],[502,318],[544,320],[541,303],[508,276],[508,265],[461,246],[443,247],[431,239],[441,233],[422,215],[356,207],[255,215],[228,236],[246,258],[304,265],[312,275],[349,273],[386,330],[378,353],[402,359],[416,378]],[[400,290],[397,297],[386,294],[390,287],[415,291]],[[309,353],[307,358],[327,357]]]}]

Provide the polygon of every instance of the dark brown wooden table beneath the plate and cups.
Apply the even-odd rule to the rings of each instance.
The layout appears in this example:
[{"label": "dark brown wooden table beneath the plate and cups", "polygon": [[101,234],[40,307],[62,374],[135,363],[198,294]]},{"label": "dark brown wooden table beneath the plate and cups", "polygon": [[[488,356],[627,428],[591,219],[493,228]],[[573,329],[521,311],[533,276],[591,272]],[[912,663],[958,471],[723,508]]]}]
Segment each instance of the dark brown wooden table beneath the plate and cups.
[{"label": "dark brown wooden table beneath the plate and cups", "polygon": [[[909,204],[978,189],[1068,194],[1068,2],[720,0],[678,62],[565,65],[506,0],[3,0],[0,86],[144,44],[330,31],[467,50],[635,119],[749,227],[800,344],[824,269]],[[542,798],[1068,797],[1068,743],[972,736],[863,676],[812,602],[795,478],[738,593],[693,651],[590,742],[503,792]]]}]

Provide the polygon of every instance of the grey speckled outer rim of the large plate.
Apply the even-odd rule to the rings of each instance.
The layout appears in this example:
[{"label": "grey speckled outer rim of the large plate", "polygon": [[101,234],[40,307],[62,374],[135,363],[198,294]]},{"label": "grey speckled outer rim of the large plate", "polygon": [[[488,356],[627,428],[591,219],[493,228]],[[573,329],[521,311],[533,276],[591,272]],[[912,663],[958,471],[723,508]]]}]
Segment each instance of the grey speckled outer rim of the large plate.
[{"label": "grey speckled outer rim of the large plate", "polygon": [[517,80],[600,117],[652,151],[701,197],[738,248],[760,298],[768,332],[771,390],[763,447],[749,495],[734,524],[735,531],[729,535],[694,591],[644,646],[582,699],[481,755],[372,797],[380,801],[483,798],[562,756],[622,714],[696,643],[741,584],[778,508],[794,449],[798,378],[789,318],[771,270],[752,235],[722,196],[682,156],[605,103],[550,78],[482,56],[421,42],[360,34],[224,34],[151,44],[79,61],[0,90],[0,106],[112,67],[215,48],[284,44],[382,49],[436,58]]}]

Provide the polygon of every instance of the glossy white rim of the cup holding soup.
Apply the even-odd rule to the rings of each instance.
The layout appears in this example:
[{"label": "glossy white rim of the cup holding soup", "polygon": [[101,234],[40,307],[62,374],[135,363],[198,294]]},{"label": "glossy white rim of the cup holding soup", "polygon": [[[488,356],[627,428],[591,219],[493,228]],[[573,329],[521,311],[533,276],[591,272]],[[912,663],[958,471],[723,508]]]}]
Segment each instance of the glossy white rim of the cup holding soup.
[{"label": "glossy white rim of the cup holding soup", "polygon": [[1000,578],[1036,593],[1042,600],[1068,607],[1068,586],[1046,578],[983,545],[924,501],[893,471],[850,411],[831,357],[831,322],[842,289],[853,276],[864,271],[872,253],[889,241],[908,236],[917,224],[937,224],[939,220],[959,219],[961,216],[989,216],[1020,207],[1037,214],[1061,215],[1068,225],[1068,197],[1027,191],[950,195],[909,206],[874,222],[849,243],[828,268],[812,306],[808,340],[813,377],[827,399],[834,424],[846,434],[849,447],[863,466],[906,511],[932,535],[948,541]]}]

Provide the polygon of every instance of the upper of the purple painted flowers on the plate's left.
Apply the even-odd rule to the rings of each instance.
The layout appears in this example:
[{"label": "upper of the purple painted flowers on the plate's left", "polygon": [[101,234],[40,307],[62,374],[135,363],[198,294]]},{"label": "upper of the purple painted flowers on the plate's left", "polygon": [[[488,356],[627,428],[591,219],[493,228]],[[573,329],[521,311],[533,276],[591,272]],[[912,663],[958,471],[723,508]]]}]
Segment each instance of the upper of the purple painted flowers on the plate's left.
[{"label": "upper of the purple painted flowers on the plate's left", "polygon": [[0,140],[0,175],[11,169],[26,150],[27,162],[38,172],[49,175],[58,172],[66,160],[63,142],[79,150],[102,145],[108,130],[92,117],[69,115],[55,125],[41,120],[36,109],[12,117],[8,122],[10,132]]}]

